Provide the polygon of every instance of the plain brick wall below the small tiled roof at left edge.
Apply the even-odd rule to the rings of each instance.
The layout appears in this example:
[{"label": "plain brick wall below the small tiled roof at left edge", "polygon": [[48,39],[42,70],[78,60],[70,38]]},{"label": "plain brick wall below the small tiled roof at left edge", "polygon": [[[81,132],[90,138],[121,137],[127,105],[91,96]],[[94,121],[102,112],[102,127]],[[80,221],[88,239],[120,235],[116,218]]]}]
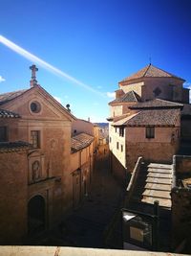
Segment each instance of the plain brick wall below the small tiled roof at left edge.
[{"label": "plain brick wall below the small tiled roof at left edge", "polygon": [[17,244],[27,233],[27,153],[0,153],[0,244]]}]

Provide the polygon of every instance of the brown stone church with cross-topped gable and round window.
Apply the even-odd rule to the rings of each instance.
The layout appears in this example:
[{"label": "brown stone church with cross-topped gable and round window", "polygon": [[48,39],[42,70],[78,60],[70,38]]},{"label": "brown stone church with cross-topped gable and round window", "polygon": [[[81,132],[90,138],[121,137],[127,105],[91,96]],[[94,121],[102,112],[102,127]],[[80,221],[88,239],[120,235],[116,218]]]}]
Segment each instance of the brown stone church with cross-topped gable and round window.
[{"label": "brown stone church with cross-topped gable and round window", "polygon": [[0,95],[0,244],[61,221],[88,194],[94,169],[94,125],[77,128],[31,70],[30,88]]}]

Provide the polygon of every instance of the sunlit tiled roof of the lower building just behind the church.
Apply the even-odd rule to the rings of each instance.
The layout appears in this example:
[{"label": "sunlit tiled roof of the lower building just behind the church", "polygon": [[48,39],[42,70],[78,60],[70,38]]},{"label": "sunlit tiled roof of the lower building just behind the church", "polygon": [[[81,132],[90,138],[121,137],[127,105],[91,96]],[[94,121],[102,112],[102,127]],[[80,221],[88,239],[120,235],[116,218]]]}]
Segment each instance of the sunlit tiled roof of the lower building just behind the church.
[{"label": "sunlit tiled roof of the lower building just behind the church", "polygon": [[79,133],[72,138],[72,151],[79,151],[88,147],[94,141],[94,137],[86,133]]}]

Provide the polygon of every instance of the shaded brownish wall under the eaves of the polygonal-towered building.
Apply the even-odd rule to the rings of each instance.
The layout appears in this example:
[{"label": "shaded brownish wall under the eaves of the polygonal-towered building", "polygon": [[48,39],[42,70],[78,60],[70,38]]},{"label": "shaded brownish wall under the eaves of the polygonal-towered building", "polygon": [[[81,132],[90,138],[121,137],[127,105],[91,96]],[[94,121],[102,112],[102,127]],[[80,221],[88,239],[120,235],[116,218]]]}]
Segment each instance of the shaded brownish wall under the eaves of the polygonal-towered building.
[{"label": "shaded brownish wall under the eaves of the polygonal-towered building", "polygon": [[[175,134],[172,140],[172,134]],[[180,128],[155,128],[155,138],[145,137],[145,128],[126,128],[126,166],[132,172],[138,157],[145,161],[171,163],[179,150]]]}]

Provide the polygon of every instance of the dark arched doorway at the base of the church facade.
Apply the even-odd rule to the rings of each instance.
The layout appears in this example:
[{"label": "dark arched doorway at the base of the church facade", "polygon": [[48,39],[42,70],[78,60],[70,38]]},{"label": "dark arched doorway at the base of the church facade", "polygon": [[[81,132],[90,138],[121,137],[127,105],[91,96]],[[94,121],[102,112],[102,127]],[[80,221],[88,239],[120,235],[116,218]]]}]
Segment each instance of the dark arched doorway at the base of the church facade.
[{"label": "dark arched doorway at the base of the church facade", "polygon": [[45,229],[45,199],[35,196],[28,203],[28,232],[36,234]]}]

